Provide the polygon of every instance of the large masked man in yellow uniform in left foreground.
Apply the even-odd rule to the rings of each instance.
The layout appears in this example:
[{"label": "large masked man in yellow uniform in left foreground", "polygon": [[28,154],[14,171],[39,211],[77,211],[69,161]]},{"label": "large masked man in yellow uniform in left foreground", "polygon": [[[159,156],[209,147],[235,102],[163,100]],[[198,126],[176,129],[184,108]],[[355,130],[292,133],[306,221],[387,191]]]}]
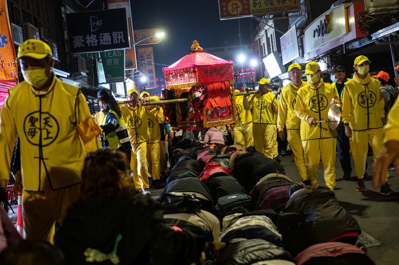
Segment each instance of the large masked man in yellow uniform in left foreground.
[{"label": "large masked man in yellow uniform in left foreground", "polygon": [[[83,158],[100,147],[95,133],[84,138],[77,129],[90,132],[84,125],[97,125],[82,92],[55,77],[46,43],[26,40],[18,60],[25,81],[10,91],[1,110],[0,187],[7,185],[19,136],[25,238],[53,242],[55,222],[63,221],[80,192]],[[14,189],[20,188],[17,180]]]}]

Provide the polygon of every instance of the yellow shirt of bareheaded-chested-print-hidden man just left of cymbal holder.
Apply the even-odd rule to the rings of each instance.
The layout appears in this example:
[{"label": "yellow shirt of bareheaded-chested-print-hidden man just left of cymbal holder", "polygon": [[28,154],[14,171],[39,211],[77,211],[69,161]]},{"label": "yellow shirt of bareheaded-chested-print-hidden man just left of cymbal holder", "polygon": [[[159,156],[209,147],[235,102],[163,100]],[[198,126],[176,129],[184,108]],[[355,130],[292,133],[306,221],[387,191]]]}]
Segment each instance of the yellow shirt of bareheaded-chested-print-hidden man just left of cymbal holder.
[{"label": "yellow shirt of bareheaded-chested-print-hidden man just left of cymbal holder", "polygon": [[281,89],[277,118],[277,128],[279,131],[282,131],[284,126],[287,130],[301,129],[301,120],[296,116],[294,108],[298,89],[303,86],[306,86],[305,81],[302,81],[302,86],[300,87],[296,87],[291,82]]}]

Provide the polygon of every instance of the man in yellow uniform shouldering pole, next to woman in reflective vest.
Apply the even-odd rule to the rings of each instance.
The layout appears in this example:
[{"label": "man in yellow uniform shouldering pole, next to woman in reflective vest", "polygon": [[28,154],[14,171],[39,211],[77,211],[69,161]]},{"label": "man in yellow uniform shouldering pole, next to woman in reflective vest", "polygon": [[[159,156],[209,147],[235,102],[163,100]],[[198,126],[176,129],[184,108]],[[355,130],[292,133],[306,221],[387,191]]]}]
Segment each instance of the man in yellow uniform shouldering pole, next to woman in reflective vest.
[{"label": "man in yellow uniform shouldering pole, next to woman in reflective vest", "polygon": [[130,168],[133,170],[133,180],[136,189],[142,189],[144,195],[150,194],[147,167],[147,141],[150,139],[146,107],[139,106],[139,93],[135,89],[128,91],[126,99],[128,104],[121,105],[123,119],[127,124],[132,156]]}]

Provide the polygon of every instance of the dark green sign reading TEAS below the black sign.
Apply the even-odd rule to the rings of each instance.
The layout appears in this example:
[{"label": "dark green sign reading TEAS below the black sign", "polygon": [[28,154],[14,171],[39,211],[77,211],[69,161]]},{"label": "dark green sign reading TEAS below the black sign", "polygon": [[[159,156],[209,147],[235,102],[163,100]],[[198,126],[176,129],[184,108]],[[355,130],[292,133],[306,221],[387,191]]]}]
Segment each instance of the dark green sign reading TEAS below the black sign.
[{"label": "dark green sign reading TEAS below the black sign", "polygon": [[123,50],[101,52],[104,66],[105,80],[107,83],[125,81],[125,54]]}]

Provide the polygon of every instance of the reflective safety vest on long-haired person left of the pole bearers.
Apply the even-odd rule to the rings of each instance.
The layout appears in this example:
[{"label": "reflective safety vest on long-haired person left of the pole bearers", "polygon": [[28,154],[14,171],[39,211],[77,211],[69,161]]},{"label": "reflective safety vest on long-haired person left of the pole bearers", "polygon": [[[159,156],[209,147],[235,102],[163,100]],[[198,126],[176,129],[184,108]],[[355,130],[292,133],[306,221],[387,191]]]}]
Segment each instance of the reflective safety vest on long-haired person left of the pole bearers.
[{"label": "reflective safety vest on long-haired person left of the pole bearers", "polygon": [[126,150],[132,149],[129,141],[129,134],[123,117],[119,117],[116,112],[109,110],[104,116],[102,125],[107,125],[107,120],[110,113],[116,116],[119,127],[111,133],[105,134],[104,132],[102,132],[101,134],[103,136],[103,140],[108,142],[108,145],[111,149],[118,149],[121,146],[123,146],[123,148],[125,148]]}]

